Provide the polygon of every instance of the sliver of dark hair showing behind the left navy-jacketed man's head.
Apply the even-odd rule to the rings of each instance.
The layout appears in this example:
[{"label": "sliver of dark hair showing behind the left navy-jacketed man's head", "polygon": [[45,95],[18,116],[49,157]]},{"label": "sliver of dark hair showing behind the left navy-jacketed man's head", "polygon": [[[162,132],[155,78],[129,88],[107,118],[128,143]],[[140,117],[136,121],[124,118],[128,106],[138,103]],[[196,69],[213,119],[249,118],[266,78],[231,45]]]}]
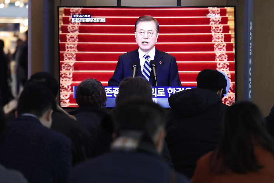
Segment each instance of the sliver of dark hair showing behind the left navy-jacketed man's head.
[{"label": "sliver of dark hair showing behind the left navy-jacketed man's head", "polygon": [[59,83],[57,79],[51,75],[49,72],[37,72],[31,75],[30,80],[35,80],[41,82],[45,87],[49,88],[53,95],[56,97],[58,94],[58,89],[59,89]]}]

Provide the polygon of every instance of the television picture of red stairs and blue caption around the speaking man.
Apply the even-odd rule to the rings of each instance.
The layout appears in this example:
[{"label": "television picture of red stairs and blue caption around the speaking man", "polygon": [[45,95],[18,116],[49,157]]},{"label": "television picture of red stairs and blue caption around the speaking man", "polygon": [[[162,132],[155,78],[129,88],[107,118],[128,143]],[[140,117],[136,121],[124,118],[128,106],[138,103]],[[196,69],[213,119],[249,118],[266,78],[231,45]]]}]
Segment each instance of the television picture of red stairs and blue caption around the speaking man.
[{"label": "television picture of red stairs and blue caption around the speaking man", "polygon": [[[77,107],[75,88],[88,78],[95,78],[105,86],[106,107],[115,105],[119,89],[108,86],[108,81],[119,55],[138,49],[134,25],[143,15],[151,15],[158,21],[155,48],[176,58],[182,84],[153,87],[155,102],[169,107],[168,96],[195,87],[197,74],[203,69],[216,69],[227,75],[229,89],[222,100],[227,105],[235,102],[235,7],[58,7],[58,10],[61,107]],[[131,66],[128,69],[132,72]],[[158,76],[158,82],[159,79]]]}]

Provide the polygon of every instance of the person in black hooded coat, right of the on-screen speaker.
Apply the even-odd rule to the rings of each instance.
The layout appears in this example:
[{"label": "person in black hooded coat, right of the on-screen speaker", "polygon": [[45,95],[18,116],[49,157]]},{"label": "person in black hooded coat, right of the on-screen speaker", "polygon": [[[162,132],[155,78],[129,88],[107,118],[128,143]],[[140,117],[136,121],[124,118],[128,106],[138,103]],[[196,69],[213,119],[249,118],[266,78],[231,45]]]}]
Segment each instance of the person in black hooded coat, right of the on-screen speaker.
[{"label": "person in black hooded coat, right of the on-screen speaker", "polygon": [[217,70],[204,69],[197,87],[168,98],[166,143],[175,170],[192,177],[196,161],[214,150],[221,137],[221,119],[229,107],[222,103],[227,81]]}]

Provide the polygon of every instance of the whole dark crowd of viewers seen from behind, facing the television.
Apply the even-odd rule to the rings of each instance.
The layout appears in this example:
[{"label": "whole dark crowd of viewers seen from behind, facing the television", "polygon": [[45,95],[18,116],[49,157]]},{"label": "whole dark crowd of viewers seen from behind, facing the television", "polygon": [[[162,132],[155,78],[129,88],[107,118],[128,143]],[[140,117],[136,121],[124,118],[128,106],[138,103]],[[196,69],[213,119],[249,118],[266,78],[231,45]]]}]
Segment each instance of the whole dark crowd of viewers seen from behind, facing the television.
[{"label": "whole dark crowd of viewers seen from behind, facing the television", "polygon": [[105,89],[91,78],[66,112],[58,81],[37,72],[14,114],[0,108],[0,182],[274,182],[274,108],[263,118],[251,102],[227,106],[226,87],[222,73],[204,69],[165,109],[146,79],[127,77],[105,109]]}]

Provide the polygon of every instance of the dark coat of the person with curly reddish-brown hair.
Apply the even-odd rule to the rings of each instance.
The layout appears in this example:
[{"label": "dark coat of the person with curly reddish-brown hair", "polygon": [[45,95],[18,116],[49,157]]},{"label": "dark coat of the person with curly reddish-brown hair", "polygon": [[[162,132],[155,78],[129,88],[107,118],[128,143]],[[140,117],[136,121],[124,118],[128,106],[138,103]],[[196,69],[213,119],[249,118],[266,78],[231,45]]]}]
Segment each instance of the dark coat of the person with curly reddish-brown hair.
[{"label": "dark coat of the person with curly reddish-brown hair", "polygon": [[108,151],[112,137],[111,134],[101,128],[103,117],[109,115],[106,110],[93,106],[79,106],[75,111],[69,112],[69,114],[76,117],[77,122],[89,136],[90,144],[92,144],[92,156],[88,158]]}]

